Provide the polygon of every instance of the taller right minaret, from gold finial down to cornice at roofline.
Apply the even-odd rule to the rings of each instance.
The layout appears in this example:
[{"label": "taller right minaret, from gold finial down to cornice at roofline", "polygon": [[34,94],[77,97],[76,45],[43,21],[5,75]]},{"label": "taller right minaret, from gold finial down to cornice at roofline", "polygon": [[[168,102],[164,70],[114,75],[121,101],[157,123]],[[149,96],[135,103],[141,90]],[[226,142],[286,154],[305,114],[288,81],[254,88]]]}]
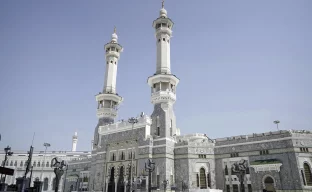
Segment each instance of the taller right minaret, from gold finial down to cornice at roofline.
[{"label": "taller right minaret, from gold finial down to cornice at roofline", "polygon": [[156,73],[148,78],[151,102],[154,104],[152,133],[157,137],[172,137],[177,134],[173,104],[176,101],[176,86],[179,79],[171,74],[170,38],[173,22],[167,16],[164,2],[159,17],[153,22],[153,27],[156,31]]}]

